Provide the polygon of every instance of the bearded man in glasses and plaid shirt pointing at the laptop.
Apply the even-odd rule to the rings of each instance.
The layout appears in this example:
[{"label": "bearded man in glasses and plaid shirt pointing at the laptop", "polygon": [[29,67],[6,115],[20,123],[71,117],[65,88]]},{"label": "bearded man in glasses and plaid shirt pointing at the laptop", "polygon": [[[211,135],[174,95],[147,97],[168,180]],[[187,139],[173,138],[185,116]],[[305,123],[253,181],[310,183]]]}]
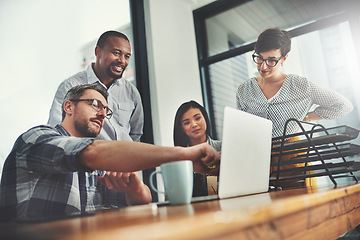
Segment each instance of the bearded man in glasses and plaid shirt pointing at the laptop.
[{"label": "bearded man in glasses and plaid shirt pointing at the laptop", "polygon": [[112,117],[107,91],[99,84],[71,88],[62,106],[61,124],[31,128],[5,160],[1,221],[44,221],[150,203],[149,188],[133,171],[165,162],[193,160],[195,171],[219,170],[208,168],[218,165],[220,156],[207,144],[175,148],[95,139]]}]

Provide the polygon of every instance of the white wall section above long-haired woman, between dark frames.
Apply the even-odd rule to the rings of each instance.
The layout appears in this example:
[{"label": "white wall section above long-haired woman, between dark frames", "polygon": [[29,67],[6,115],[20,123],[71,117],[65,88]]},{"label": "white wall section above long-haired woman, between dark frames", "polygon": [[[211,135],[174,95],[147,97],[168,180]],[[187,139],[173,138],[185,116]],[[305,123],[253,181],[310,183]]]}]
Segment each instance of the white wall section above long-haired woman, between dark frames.
[{"label": "white wall section above long-haired woman, between dark frames", "polygon": [[203,104],[192,9],[182,0],[144,2],[154,141],[172,146],[177,108]]}]

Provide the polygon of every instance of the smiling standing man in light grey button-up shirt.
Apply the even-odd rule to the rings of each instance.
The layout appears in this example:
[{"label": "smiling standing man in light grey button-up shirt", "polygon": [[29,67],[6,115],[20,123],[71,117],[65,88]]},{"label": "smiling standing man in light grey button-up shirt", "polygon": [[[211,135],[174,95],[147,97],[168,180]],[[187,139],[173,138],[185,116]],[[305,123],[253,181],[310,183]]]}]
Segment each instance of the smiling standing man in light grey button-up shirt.
[{"label": "smiling standing man in light grey button-up shirt", "polygon": [[75,74],[59,85],[48,124],[55,126],[61,122],[62,100],[71,87],[98,83],[108,91],[108,104],[114,111],[111,119],[105,119],[98,138],[140,141],[144,125],[141,97],[136,87],[123,78],[131,57],[129,39],[123,33],[107,31],[97,41],[95,56],[95,63],[90,64],[86,71]]}]

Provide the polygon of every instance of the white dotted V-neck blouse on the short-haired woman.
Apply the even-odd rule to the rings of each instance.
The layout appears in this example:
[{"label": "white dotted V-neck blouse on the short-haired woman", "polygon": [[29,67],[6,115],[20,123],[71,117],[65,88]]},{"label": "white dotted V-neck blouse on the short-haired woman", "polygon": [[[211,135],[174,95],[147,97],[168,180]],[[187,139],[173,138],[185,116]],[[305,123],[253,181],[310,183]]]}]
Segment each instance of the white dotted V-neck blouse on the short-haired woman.
[{"label": "white dotted V-neck blouse on the short-haired woman", "polygon": [[[280,90],[270,99],[261,91],[255,78],[240,84],[236,94],[237,108],[270,119],[273,137],[283,135],[290,118],[302,121],[313,105],[314,112],[324,119],[335,119],[352,111],[349,100],[339,93],[320,87],[304,77],[289,74]],[[286,134],[294,133],[298,124],[291,121]]]}]

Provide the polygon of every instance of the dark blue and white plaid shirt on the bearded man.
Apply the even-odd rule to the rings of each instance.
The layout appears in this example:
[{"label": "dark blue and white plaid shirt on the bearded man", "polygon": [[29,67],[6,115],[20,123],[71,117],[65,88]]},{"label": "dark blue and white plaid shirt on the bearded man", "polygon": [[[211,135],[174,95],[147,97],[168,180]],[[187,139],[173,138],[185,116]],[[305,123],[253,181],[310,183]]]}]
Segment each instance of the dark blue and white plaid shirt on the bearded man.
[{"label": "dark blue and white plaid shirt on the bearded man", "polygon": [[22,134],[5,160],[0,220],[32,221],[125,206],[125,195],[97,182],[103,171],[82,166],[77,155],[93,138],[71,137],[57,125]]}]

